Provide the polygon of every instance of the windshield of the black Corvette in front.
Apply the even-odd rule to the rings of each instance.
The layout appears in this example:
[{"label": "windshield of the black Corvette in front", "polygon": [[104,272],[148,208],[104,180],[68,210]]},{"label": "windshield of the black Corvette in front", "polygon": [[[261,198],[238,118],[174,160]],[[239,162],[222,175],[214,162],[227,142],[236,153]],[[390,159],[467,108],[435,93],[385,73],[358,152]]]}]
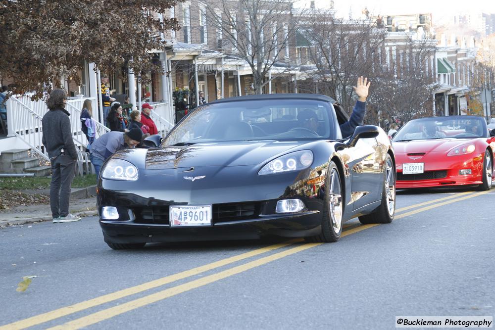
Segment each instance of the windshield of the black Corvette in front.
[{"label": "windshield of the black Corvette in front", "polygon": [[[328,102],[263,99],[206,104],[189,114],[162,145],[241,140],[335,139]],[[332,128],[332,129],[331,129]]]}]

